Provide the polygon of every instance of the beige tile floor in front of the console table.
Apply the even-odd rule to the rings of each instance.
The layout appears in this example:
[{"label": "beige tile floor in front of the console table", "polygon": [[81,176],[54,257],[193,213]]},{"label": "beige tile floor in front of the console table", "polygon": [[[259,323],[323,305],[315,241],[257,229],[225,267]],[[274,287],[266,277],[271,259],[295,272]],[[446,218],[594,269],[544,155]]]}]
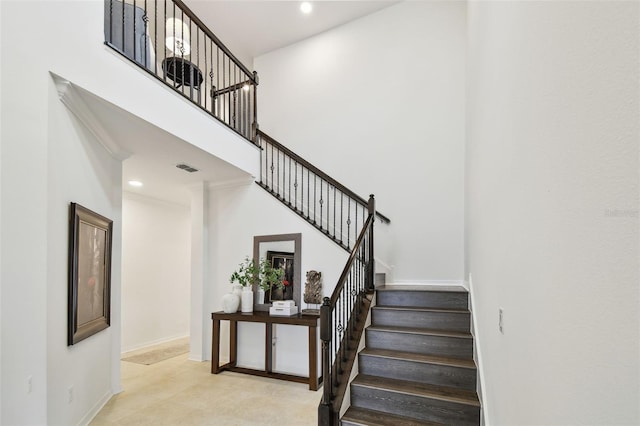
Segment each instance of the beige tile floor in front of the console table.
[{"label": "beige tile floor in front of the console table", "polygon": [[322,391],[224,372],[180,355],[152,365],[122,362],[122,387],[91,425],[317,425]]}]

